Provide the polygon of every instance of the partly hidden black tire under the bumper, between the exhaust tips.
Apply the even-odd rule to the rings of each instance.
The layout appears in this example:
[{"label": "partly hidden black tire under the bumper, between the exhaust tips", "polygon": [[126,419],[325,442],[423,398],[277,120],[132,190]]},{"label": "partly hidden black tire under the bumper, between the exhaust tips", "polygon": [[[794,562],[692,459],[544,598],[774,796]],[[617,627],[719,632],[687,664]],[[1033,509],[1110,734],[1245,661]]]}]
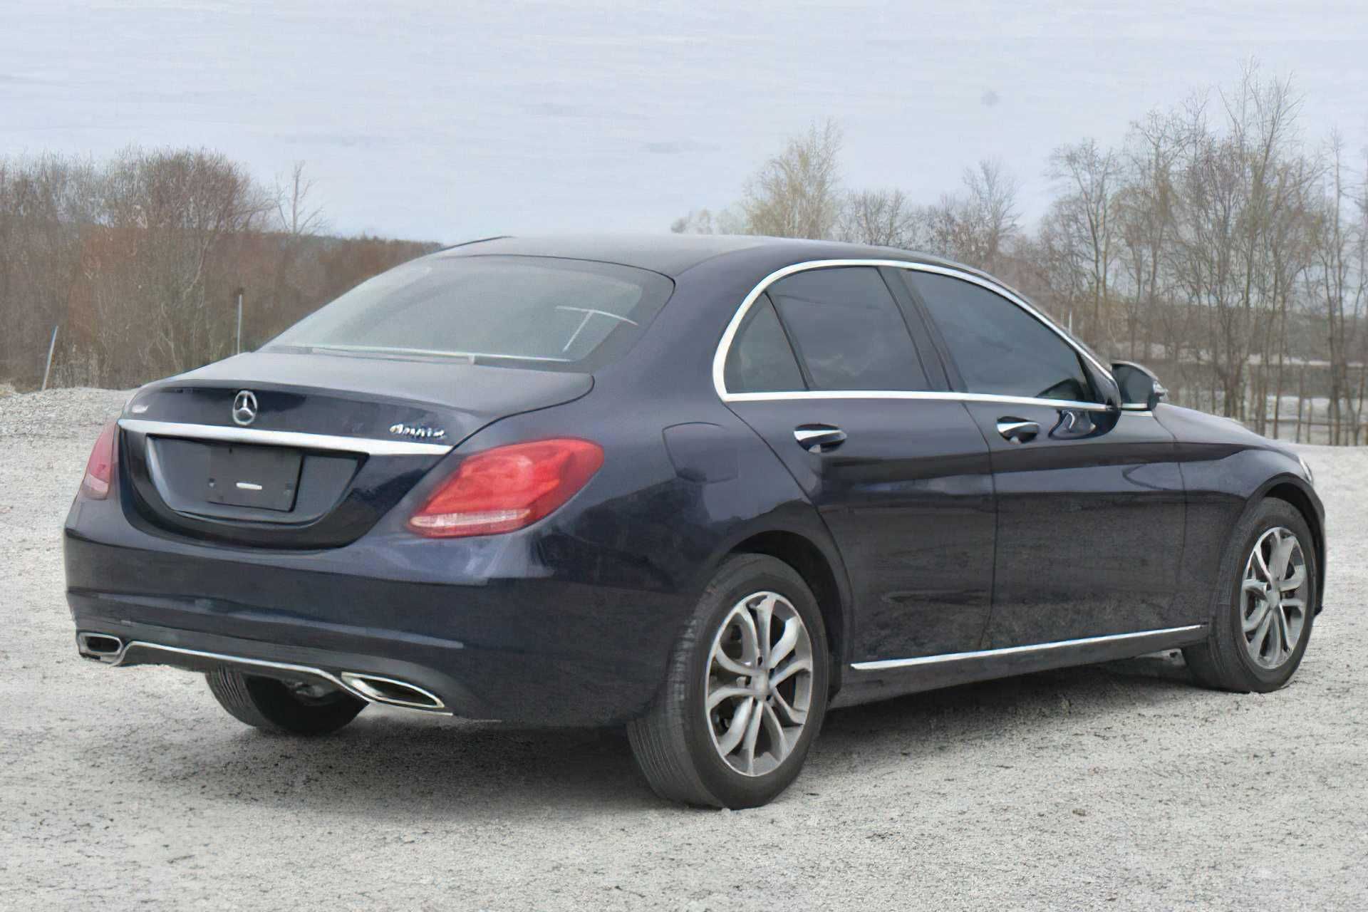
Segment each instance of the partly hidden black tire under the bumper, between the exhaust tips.
[{"label": "partly hidden black tire under the bumper, between the exhaust tips", "polygon": [[285,681],[242,674],[227,666],[204,677],[233,718],[276,734],[331,734],[365,708],[365,700],[342,690],[301,695]]}]

